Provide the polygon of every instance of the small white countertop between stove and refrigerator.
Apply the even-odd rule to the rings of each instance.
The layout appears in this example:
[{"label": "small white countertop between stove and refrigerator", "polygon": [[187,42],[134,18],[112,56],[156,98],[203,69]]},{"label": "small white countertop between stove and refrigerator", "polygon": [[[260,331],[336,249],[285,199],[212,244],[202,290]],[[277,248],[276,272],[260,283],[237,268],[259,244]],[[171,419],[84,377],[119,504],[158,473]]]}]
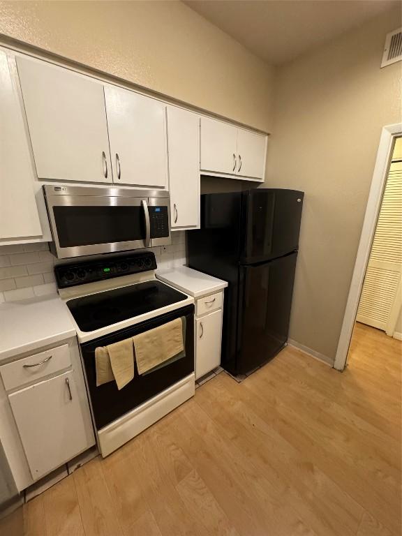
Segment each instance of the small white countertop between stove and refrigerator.
[{"label": "small white countertop between stove and refrigerator", "polygon": [[222,279],[207,276],[202,271],[186,266],[157,270],[156,277],[195,298],[207,296],[228,286],[228,283]]}]

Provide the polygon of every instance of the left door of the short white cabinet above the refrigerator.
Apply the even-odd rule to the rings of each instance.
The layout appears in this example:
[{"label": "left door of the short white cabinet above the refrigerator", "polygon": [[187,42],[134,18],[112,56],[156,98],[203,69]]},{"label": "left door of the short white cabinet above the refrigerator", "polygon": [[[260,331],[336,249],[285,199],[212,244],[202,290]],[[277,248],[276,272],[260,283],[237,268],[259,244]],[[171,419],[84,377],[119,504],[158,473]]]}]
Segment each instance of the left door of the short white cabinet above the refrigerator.
[{"label": "left door of the short white cabinet above the refrigerator", "polygon": [[236,174],[237,128],[216,119],[201,118],[201,169]]}]

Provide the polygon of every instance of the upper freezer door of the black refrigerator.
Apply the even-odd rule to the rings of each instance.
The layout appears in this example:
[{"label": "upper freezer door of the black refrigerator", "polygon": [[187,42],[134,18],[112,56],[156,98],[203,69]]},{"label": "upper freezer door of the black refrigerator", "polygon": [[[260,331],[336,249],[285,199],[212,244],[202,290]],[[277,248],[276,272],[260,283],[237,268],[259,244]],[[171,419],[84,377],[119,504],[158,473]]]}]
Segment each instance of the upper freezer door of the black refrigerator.
[{"label": "upper freezer door of the black refrigerator", "polygon": [[252,264],[297,251],[304,193],[256,188],[243,196],[246,236],[241,261]]}]

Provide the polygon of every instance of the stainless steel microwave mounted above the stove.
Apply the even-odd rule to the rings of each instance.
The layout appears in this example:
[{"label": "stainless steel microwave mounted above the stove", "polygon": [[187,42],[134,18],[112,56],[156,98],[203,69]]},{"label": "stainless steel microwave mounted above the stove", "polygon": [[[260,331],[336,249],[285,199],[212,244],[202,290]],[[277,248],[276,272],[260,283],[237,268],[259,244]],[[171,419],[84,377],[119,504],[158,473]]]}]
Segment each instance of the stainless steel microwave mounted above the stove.
[{"label": "stainless steel microwave mounted above the stove", "polygon": [[59,259],[170,244],[169,192],[43,186]]}]

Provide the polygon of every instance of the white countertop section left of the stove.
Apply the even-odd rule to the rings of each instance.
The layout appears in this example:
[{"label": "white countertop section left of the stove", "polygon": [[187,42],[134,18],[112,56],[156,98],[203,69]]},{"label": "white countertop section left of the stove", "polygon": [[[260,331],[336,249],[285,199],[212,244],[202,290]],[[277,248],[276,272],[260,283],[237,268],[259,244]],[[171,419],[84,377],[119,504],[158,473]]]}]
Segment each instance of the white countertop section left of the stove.
[{"label": "white countertop section left of the stove", "polygon": [[70,313],[59,296],[0,304],[0,362],[73,336]]}]

